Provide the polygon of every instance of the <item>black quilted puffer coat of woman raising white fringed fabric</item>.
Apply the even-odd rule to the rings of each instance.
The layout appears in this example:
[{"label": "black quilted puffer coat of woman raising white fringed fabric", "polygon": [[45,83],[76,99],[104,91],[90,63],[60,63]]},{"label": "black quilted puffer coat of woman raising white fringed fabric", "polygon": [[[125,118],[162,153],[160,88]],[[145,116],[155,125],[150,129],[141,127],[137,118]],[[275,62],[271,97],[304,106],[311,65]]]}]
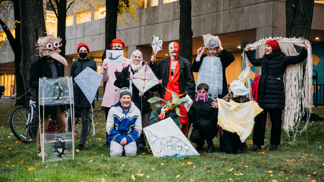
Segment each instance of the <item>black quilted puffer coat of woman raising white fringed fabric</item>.
[{"label": "black quilted puffer coat of woman raising white fringed fabric", "polygon": [[261,66],[261,76],[258,86],[258,103],[263,109],[280,109],[285,107],[285,91],[283,74],[288,64],[303,62],[307,57],[307,51],[302,49],[298,56],[285,56],[280,51],[271,55],[264,55],[256,59],[252,51],[246,52],[250,62],[254,66]]}]

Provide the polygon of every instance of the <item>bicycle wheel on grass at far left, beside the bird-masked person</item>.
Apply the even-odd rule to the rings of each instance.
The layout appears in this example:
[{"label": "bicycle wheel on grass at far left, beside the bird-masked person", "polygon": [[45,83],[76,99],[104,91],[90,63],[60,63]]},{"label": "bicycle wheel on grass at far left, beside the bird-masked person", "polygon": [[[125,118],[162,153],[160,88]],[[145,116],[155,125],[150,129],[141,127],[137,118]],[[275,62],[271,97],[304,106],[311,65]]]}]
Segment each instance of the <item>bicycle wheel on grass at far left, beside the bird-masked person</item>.
[{"label": "bicycle wheel on grass at far left, beside the bird-masked person", "polygon": [[31,114],[28,107],[18,107],[11,113],[9,120],[11,131],[24,143],[36,141],[39,125],[39,118],[35,111],[32,114],[33,118],[31,123],[27,124],[28,114]]}]

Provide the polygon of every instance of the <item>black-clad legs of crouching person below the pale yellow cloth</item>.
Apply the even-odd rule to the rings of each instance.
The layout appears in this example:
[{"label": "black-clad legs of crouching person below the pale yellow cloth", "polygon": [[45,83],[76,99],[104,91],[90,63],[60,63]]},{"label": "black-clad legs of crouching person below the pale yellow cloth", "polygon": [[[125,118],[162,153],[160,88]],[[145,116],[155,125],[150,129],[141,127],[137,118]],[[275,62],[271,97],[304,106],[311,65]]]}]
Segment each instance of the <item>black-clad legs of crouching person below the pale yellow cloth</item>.
[{"label": "black-clad legs of crouching person below the pale yellow cloth", "polygon": [[243,151],[246,148],[246,143],[241,142],[240,136],[237,133],[232,133],[223,129],[223,135],[219,139],[219,147],[221,152],[228,154],[237,154],[238,151]]}]

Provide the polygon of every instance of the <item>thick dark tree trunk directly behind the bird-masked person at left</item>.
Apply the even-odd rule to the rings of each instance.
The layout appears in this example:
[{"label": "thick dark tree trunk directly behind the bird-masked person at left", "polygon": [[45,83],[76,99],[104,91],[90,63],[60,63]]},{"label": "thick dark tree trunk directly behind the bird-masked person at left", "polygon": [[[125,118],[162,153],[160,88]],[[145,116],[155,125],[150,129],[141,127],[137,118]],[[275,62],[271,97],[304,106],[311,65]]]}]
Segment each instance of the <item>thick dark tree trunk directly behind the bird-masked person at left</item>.
[{"label": "thick dark tree trunk directly behind the bird-masked person at left", "polygon": [[25,90],[29,90],[30,67],[37,59],[36,43],[38,36],[44,36],[46,32],[43,0],[19,0],[21,17],[21,49],[22,59],[20,74]]}]

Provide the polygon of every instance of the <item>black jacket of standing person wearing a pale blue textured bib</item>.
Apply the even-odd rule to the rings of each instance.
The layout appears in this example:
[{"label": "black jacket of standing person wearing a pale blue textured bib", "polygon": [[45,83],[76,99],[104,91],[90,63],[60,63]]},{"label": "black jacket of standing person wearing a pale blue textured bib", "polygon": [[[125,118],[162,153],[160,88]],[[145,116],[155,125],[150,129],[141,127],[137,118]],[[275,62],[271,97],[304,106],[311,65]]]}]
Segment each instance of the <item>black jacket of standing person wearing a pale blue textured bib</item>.
[{"label": "black jacket of standing person wearing a pale blue textured bib", "polygon": [[[223,98],[226,94],[228,94],[228,89],[227,89],[227,80],[226,80],[226,74],[225,74],[225,70],[226,67],[228,67],[230,65],[230,63],[232,63],[234,61],[234,56],[232,55],[232,53],[228,52],[227,50],[223,49],[221,51],[222,54],[217,54],[216,56],[219,57],[221,59],[222,62],[222,67],[223,67],[223,91],[222,94],[218,96],[218,98]],[[191,70],[193,72],[198,72],[199,68],[201,66],[201,63],[203,61],[203,58],[206,57],[207,54],[203,54],[200,58],[200,61],[196,62],[193,61],[192,65],[191,65]]]}]

